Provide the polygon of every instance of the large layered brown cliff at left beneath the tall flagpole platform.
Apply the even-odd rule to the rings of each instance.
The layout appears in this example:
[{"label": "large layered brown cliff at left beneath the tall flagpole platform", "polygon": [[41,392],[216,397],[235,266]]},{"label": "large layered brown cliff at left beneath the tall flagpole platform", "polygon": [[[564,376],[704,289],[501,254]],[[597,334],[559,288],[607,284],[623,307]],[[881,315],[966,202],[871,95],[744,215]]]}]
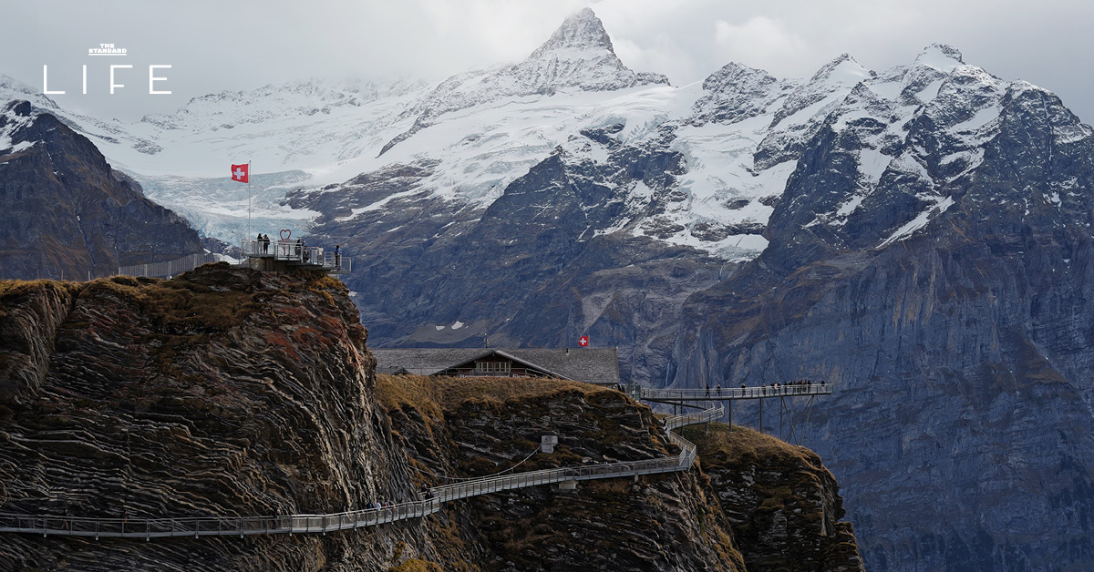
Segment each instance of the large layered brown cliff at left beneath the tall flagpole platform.
[{"label": "large layered brown cliff at left beneath the tall flagpole platform", "polygon": [[[341,284],[205,266],[170,281],[0,282],[0,505],[121,517],[337,512],[412,494]],[[361,535],[5,535],[0,570],[386,570]],[[412,551],[410,553],[414,553]]]}]

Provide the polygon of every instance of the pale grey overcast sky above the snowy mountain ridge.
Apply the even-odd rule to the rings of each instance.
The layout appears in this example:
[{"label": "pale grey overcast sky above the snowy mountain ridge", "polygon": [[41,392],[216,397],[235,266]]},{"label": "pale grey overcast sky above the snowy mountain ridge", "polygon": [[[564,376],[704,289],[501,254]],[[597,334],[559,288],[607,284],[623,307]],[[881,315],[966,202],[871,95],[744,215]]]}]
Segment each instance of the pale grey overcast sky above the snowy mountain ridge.
[{"label": "pale grey overcast sky above the snowy mountain ridge", "polygon": [[[193,96],[310,77],[439,81],[515,62],[570,13],[590,7],[622,61],[699,81],[729,61],[808,77],[841,52],[874,69],[931,43],[1004,80],[1056,92],[1094,122],[1094,2],[1074,0],[37,0],[4,2],[0,73],[96,116],[170,113]],[[126,57],[89,57],[113,43]],[[89,95],[80,94],[88,65]],[[110,96],[109,65],[126,63]],[[148,66],[171,65],[148,94]]]}]

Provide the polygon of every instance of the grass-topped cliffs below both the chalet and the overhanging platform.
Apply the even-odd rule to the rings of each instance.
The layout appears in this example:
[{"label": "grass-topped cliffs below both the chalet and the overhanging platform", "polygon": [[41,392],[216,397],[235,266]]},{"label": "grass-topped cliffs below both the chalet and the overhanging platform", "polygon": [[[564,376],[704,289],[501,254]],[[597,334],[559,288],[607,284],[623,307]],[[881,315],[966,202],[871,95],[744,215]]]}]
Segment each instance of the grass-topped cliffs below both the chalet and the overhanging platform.
[{"label": "grass-topped cliffs below both the chalet and the overhanging platform", "polygon": [[[609,389],[409,376],[381,376],[379,386],[422,482],[676,452],[649,408]],[[469,512],[439,518],[452,524],[433,540],[475,555],[475,564],[458,564],[484,571],[864,570],[839,522],[838,487],[815,454],[742,428],[710,430],[689,432],[701,470],[475,498]],[[558,435],[554,454],[535,453],[543,434]]]}]

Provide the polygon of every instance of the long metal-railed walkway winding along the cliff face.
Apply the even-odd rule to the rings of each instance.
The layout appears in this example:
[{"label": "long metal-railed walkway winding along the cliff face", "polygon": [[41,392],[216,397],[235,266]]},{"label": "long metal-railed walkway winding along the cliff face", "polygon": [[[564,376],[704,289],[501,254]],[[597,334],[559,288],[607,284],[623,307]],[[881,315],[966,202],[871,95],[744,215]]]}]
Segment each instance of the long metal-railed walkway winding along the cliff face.
[{"label": "long metal-railed walkway winding along the cliff face", "polygon": [[708,423],[721,419],[721,404],[709,404],[703,411],[670,417],[664,420],[668,440],[679,446],[677,455],[642,460],[624,460],[533,470],[484,477],[429,489],[429,498],[387,506],[361,509],[333,514],[291,514],[272,516],[209,516],[183,518],[88,518],[79,516],[39,516],[0,513],[0,533],[30,533],[61,536],[115,538],[152,538],[193,536],[248,536],[259,534],[326,534],[379,524],[420,518],[441,510],[442,502],[466,499],[479,494],[551,485],[563,481],[608,479],[636,475],[652,475],[687,470],[695,463],[696,446],[678,435],[675,430],[686,425]]}]

